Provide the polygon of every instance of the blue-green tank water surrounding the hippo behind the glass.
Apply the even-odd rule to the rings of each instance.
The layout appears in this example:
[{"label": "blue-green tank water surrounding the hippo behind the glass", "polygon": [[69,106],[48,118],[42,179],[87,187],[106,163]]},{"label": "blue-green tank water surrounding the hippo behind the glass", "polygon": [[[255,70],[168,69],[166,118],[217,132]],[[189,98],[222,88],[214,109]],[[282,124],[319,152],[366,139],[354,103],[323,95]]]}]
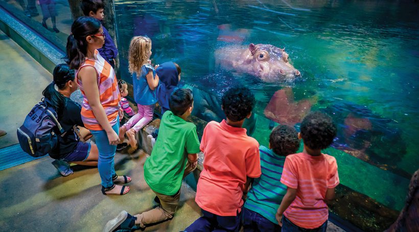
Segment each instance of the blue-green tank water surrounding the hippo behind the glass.
[{"label": "blue-green tank water surrounding the hippo behind the glass", "polygon": [[[274,114],[328,112],[339,127],[327,152],[337,158],[341,184],[400,210],[419,167],[418,11],[410,1],[118,0],[121,72],[131,82],[129,41],[147,35],[153,63],[177,62],[182,84],[216,99],[230,86],[246,85],[258,100],[252,136],[263,145],[272,124],[264,111],[275,92],[293,95],[295,107]],[[302,79],[263,82],[216,65],[216,50],[250,43],[286,47]]]}]

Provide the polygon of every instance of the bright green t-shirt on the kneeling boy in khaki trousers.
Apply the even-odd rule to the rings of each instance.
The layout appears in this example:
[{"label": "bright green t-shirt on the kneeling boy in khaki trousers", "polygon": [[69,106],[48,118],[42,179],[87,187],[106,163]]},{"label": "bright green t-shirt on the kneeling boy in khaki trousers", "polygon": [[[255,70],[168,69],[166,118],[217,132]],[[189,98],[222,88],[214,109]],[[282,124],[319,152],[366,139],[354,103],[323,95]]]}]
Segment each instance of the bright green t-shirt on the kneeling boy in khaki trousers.
[{"label": "bright green t-shirt on the kneeling boy in khaki trousers", "polygon": [[158,138],[144,164],[144,178],[158,193],[174,195],[179,191],[188,153],[199,152],[196,126],[166,111],[161,117]]}]

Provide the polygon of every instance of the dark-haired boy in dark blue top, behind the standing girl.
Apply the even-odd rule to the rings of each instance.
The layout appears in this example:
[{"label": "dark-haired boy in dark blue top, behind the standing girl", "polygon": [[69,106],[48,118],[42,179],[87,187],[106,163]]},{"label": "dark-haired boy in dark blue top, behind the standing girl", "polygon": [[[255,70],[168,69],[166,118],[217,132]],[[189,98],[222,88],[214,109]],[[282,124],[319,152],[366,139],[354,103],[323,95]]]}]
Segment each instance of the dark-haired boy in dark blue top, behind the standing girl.
[{"label": "dark-haired boy in dark blue top, behind the standing girl", "polygon": [[[104,4],[102,0],[82,0],[80,4],[81,10],[83,11],[84,16],[90,16],[103,21],[104,15]],[[108,30],[103,27],[103,33],[105,34],[104,40],[105,43],[101,48],[99,48],[99,54],[112,66],[115,68],[115,59],[118,57],[118,49],[113,42],[112,37],[109,35]]]}]

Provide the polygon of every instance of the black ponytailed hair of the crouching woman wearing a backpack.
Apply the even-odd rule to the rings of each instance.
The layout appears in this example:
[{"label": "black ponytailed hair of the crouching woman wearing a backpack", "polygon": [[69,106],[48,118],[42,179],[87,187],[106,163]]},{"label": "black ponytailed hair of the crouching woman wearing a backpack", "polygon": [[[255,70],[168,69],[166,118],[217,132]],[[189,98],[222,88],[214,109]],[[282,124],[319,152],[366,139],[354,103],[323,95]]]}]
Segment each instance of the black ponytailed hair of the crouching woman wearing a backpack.
[{"label": "black ponytailed hair of the crouching woman wearing a backpack", "polygon": [[70,69],[67,64],[59,64],[54,68],[53,78],[54,81],[46,86],[42,91],[42,95],[50,100],[58,118],[61,118],[67,98],[55,89],[55,85],[57,85],[58,89],[63,89],[68,81],[74,81],[74,70]]}]

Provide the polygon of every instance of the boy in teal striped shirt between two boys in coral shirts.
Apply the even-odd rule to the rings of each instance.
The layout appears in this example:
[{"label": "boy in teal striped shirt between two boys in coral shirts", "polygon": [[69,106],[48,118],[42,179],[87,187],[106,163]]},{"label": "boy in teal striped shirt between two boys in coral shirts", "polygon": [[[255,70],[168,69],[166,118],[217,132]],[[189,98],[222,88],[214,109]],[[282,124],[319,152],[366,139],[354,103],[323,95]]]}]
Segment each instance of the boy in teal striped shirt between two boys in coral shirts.
[{"label": "boy in teal striped shirt between two boys in coral shirts", "polygon": [[298,150],[299,139],[294,127],[279,125],[269,136],[269,148],[261,146],[262,175],[254,179],[243,210],[244,232],[280,231],[275,213],[287,186],[280,182],[285,157]]}]

